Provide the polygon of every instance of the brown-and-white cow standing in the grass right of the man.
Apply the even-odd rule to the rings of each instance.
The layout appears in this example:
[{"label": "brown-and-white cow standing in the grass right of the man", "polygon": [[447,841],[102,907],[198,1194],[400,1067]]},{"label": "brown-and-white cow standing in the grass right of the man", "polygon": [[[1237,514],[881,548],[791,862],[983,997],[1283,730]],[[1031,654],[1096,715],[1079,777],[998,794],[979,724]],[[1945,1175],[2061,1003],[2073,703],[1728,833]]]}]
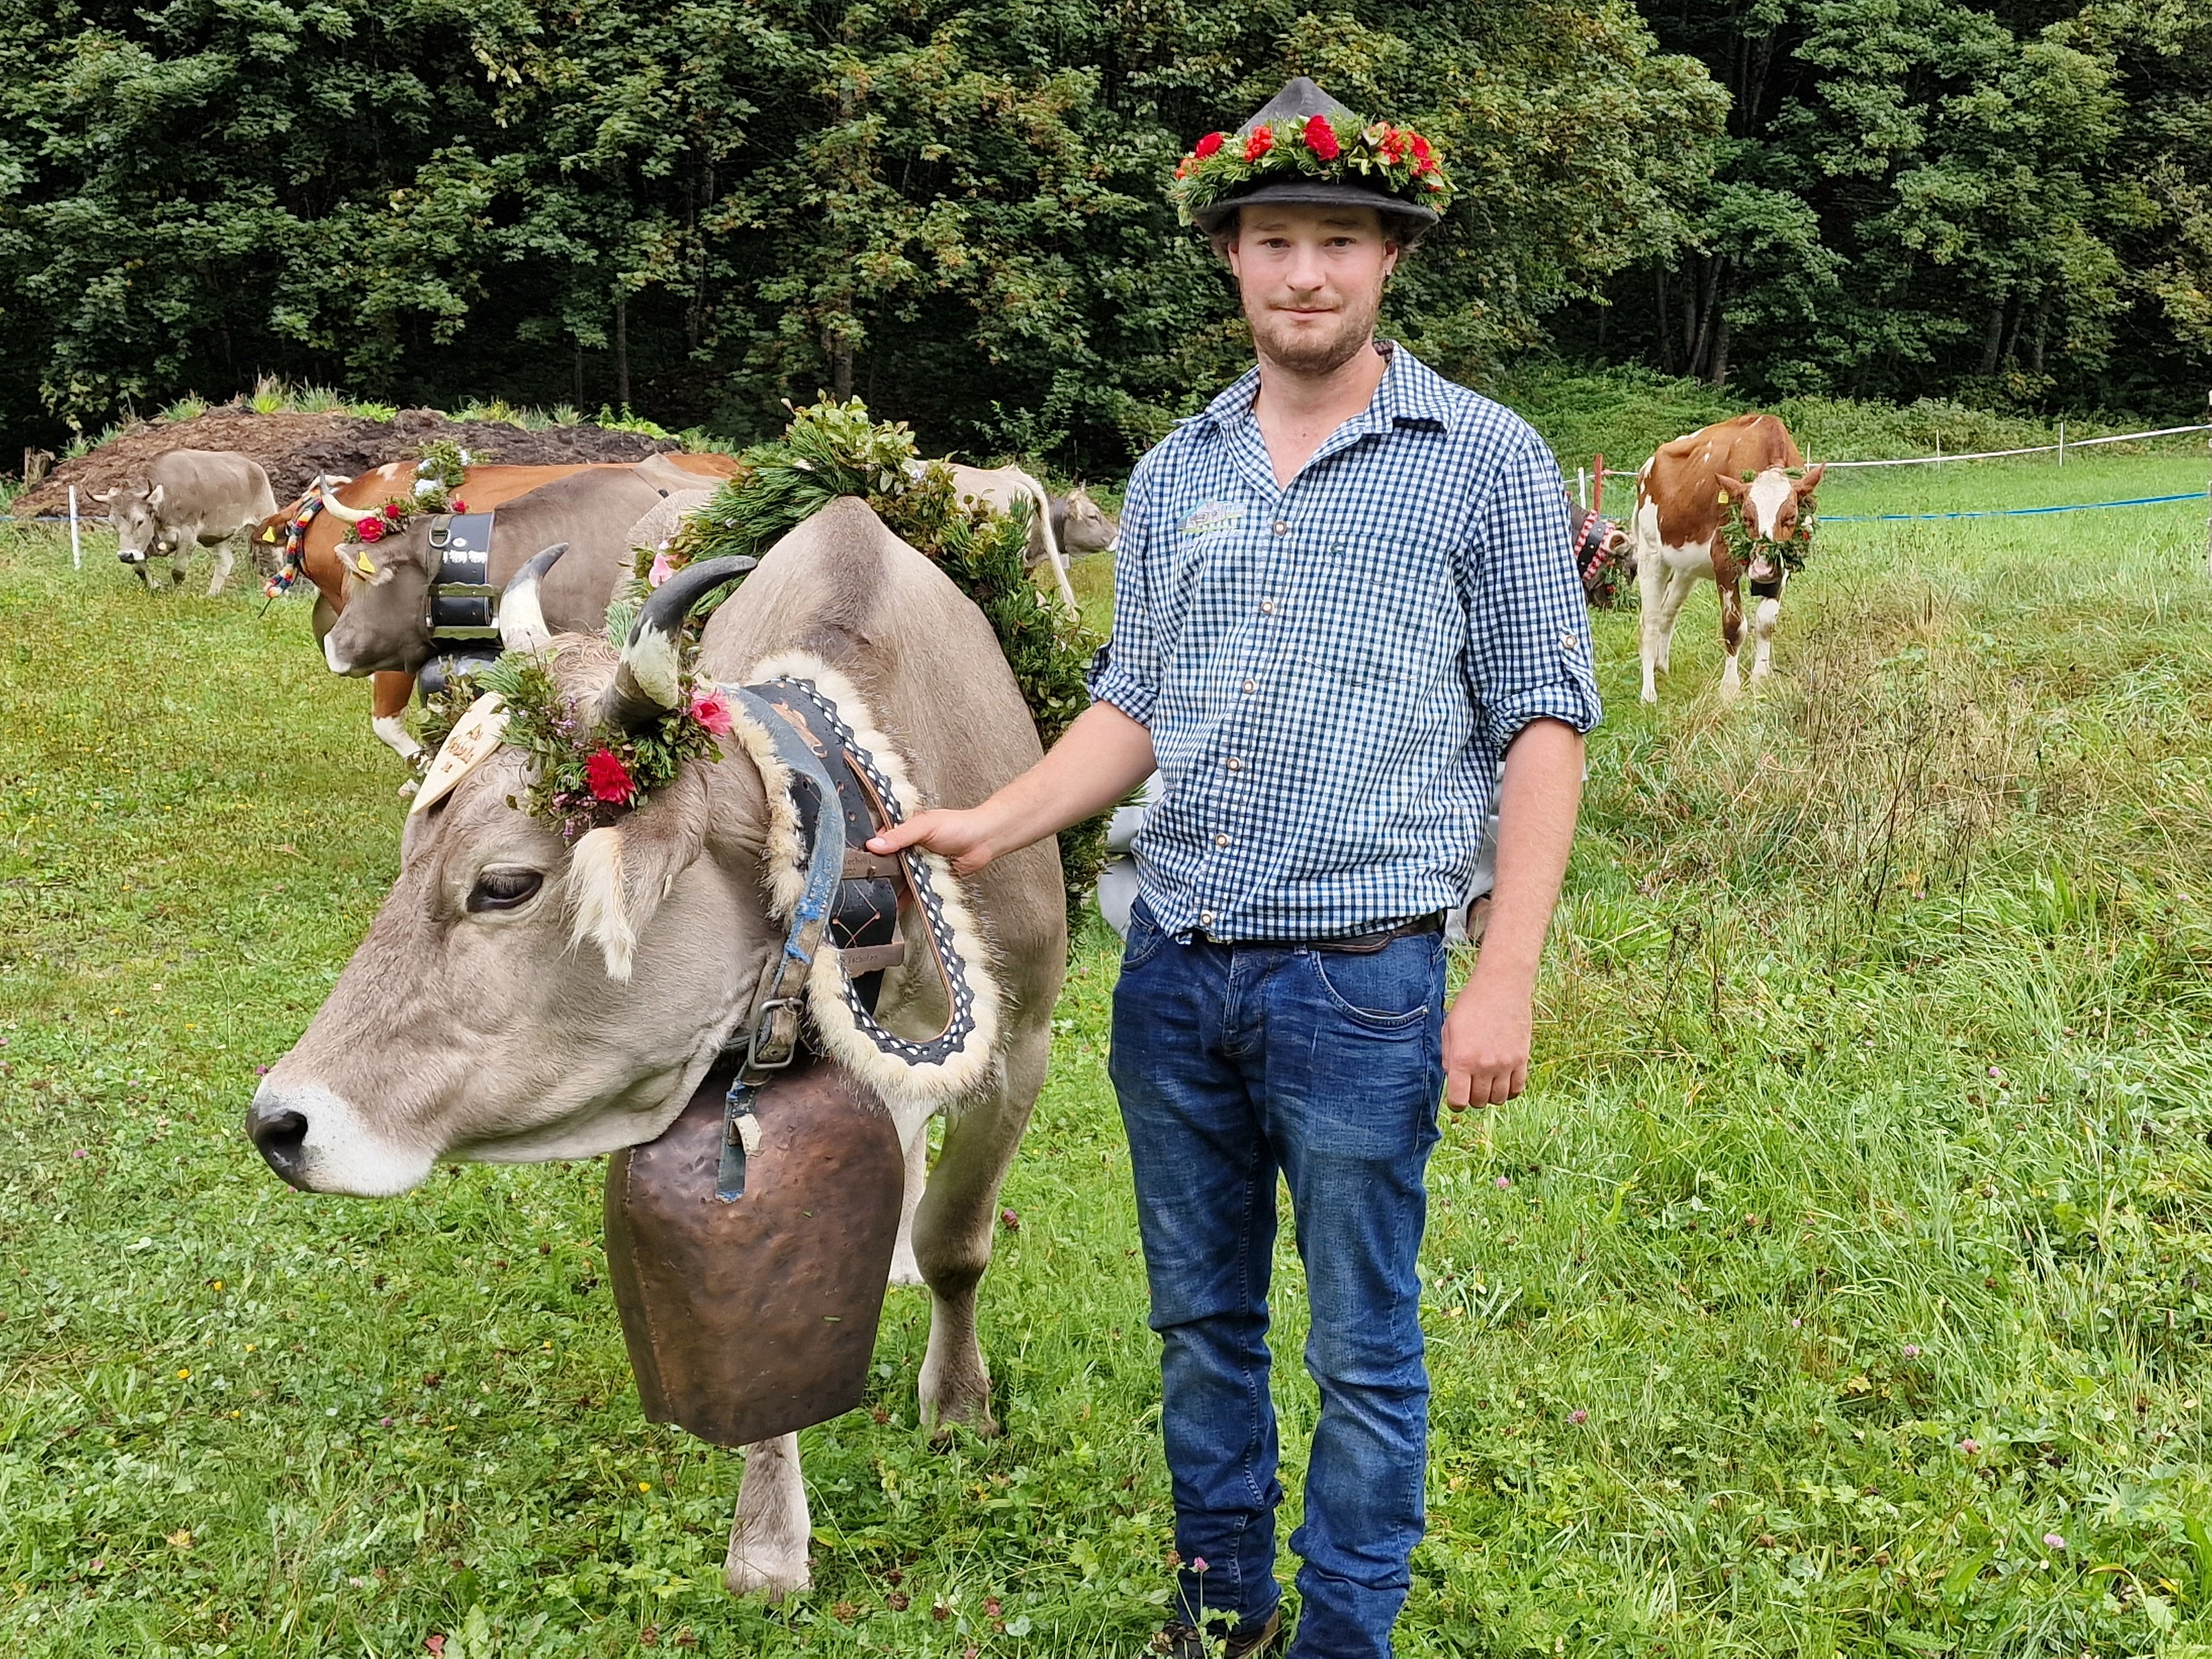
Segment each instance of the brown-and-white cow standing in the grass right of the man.
[{"label": "brown-and-white cow standing in the grass right of the man", "polygon": [[1659,445],[1659,453],[1637,471],[1630,533],[1637,588],[1644,595],[1646,703],[1659,701],[1655,677],[1668,666],[1674,615],[1701,577],[1712,577],[1721,591],[1721,648],[1728,653],[1721,697],[1732,701],[1743,690],[1736,644],[1743,639],[1745,577],[1752,582],[1752,597],[1759,599],[1759,615],[1752,619],[1759,637],[1752,681],[1765,679],[1772,670],[1774,624],[1781,622],[1783,584],[1790,573],[1767,555],[1743,568],[1721,526],[1725,513],[1734,511],[1756,540],[1794,540],[1798,515],[1812,513],[1812,491],[1820,482],[1820,467],[1792,478],[1787,469],[1794,467],[1805,467],[1805,456],[1798,453],[1790,429],[1774,416],[1745,414]]}]

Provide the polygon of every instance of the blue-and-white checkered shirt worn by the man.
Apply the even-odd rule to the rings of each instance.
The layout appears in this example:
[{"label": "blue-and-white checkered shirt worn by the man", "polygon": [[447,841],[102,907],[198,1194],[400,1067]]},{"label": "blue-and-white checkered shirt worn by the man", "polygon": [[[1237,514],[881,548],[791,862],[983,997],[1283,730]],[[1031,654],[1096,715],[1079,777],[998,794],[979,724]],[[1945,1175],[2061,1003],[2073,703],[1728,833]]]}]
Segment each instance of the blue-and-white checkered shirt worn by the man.
[{"label": "blue-and-white checkered shirt worn by the man", "polygon": [[1345,938],[1462,907],[1500,757],[1599,719],[1544,440],[1405,347],[1281,487],[1259,369],[1130,478],[1091,695],[1152,734],[1139,889],[1170,933]]}]

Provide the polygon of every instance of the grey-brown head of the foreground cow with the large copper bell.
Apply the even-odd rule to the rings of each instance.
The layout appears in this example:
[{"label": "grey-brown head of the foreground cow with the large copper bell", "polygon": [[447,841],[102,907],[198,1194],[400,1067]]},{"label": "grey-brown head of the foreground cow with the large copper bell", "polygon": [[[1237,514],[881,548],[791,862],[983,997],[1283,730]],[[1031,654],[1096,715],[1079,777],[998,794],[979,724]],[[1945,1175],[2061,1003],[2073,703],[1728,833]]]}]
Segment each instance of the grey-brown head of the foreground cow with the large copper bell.
[{"label": "grey-brown head of the foreground cow with the large copper bell", "polygon": [[[666,717],[684,617],[734,575],[726,564],[655,591],[619,657],[580,635],[551,641],[584,719]],[[500,615],[542,628],[520,586]],[[369,936],[254,1093],[248,1135],[296,1188],[383,1197],[438,1159],[524,1164],[653,1139],[781,938],[761,891],[765,785],[745,752],[690,763],[571,847],[515,805],[526,757],[487,748],[445,792],[431,772]]]}]

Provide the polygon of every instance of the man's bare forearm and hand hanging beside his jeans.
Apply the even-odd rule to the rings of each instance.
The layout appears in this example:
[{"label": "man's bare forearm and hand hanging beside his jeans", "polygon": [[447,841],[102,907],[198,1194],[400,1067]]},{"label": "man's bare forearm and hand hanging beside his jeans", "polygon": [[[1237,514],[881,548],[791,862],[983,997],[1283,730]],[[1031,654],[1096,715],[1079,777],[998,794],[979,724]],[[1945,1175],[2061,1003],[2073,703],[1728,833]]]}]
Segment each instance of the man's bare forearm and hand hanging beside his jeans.
[{"label": "man's bare forearm and hand hanging beside his jeans", "polygon": [[[1073,737],[1073,732],[1071,732]],[[1444,1104],[1502,1106],[1528,1086],[1535,969],[1582,805],[1582,732],[1535,719],[1498,785],[1498,887],[1475,971],[1444,1018]]]}]

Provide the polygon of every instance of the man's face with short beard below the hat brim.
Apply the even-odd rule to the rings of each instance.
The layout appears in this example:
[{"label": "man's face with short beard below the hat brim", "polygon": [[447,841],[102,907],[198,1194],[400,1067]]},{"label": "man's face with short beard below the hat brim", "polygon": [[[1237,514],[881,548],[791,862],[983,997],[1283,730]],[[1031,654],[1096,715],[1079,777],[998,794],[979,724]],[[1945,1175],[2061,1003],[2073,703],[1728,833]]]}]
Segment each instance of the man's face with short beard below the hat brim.
[{"label": "man's face with short beard below the hat brim", "polygon": [[1374,208],[1243,208],[1228,252],[1252,343],[1294,374],[1329,374],[1367,347],[1398,265]]}]

